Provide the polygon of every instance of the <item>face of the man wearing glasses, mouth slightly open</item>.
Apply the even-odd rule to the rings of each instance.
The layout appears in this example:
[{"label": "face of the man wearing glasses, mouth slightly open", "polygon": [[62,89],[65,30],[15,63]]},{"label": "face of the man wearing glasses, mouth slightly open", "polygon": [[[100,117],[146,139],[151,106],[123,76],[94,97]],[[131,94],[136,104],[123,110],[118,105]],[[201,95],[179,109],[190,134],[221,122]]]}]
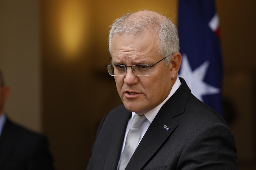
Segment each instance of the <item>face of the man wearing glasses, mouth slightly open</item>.
[{"label": "face of the man wearing glasses, mouth slightly open", "polygon": [[[112,39],[112,62],[132,66],[153,65],[163,56],[157,54],[158,43],[150,31],[143,36],[114,35]],[[165,57],[165,56],[164,56]],[[115,76],[118,94],[127,110],[145,114],[167,98],[172,88],[172,64],[160,61],[151,67],[151,75],[136,76],[130,67],[126,75]]]}]

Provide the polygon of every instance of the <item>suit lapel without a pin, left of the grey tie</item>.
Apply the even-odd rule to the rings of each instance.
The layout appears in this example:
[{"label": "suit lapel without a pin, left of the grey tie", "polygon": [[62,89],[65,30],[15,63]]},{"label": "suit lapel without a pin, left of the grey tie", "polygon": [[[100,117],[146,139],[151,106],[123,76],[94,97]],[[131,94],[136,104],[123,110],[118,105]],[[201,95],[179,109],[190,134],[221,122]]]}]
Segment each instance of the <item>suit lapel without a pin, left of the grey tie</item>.
[{"label": "suit lapel without a pin, left of the grey tie", "polygon": [[110,148],[108,151],[108,156],[106,158],[106,163],[104,167],[105,170],[117,168],[121,154],[121,149],[124,142],[124,135],[127,123],[131,116],[132,113],[127,111],[126,109],[122,109],[118,114],[115,130],[113,132]]}]

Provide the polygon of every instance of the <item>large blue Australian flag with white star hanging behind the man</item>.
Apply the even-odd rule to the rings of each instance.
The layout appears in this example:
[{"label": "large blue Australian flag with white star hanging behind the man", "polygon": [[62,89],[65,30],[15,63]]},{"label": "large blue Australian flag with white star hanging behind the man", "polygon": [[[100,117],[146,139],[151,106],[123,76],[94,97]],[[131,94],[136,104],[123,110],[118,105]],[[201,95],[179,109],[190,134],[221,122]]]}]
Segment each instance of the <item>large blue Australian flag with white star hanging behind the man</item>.
[{"label": "large blue Australian flag with white star hanging behind the man", "polygon": [[214,0],[179,0],[178,31],[184,78],[198,99],[222,115],[222,55]]}]

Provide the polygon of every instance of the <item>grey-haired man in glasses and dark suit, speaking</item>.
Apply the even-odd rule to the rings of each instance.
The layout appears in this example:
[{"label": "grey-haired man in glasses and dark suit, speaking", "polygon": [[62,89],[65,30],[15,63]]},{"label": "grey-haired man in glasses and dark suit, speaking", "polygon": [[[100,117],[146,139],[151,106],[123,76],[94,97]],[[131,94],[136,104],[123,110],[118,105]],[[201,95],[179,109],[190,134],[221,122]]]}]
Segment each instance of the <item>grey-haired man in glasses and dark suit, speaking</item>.
[{"label": "grey-haired man in glasses and dark suit, speaking", "polygon": [[[125,14],[111,27],[109,50],[112,64],[106,67],[123,105],[99,125],[88,170],[238,169],[226,122],[177,77],[179,38],[168,18],[151,11]],[[137,128],[133,119],[143,115]]]}]

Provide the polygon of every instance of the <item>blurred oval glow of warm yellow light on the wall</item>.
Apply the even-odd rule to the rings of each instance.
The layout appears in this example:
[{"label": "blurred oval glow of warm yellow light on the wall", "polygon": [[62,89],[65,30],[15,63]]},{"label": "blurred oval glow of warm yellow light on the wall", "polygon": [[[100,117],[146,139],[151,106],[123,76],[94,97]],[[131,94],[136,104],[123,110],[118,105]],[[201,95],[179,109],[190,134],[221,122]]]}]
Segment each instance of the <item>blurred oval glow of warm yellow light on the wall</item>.
[{"label": "blurred oval glow of warm yellow light on the wall", "polygon": [[74,59],[85,48],[88,39],[88,5],[84,0],[61,0],[56,8],[57,43],[62,55]]}]

